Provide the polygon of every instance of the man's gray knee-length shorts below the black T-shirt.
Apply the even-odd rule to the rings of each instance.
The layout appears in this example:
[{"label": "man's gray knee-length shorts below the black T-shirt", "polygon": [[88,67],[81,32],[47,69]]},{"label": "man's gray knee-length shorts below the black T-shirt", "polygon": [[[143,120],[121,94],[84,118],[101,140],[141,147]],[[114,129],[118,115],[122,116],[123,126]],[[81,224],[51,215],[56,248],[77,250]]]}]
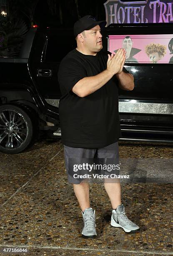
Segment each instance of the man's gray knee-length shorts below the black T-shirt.
[{"label": "man's gray knee-length shorts below the black T-shirt", "polygon": [[[118,141],[103,148],[75,148],[64,145],[68,182],[80,184],[92,179],[111,178],[119,174]],[[111,175],[110,175],[111,174]]]}]

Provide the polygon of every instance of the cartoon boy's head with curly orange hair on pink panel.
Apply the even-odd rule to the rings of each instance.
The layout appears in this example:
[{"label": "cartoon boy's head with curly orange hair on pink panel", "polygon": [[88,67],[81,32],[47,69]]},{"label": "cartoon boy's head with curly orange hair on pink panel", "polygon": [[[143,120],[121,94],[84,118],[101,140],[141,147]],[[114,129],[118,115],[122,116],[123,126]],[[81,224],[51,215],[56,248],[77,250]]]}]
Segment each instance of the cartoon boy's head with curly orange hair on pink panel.
[{"label": "cartoon boy's head with curly orange hair on pink panel", "polygon": [[166,46],[151,43],[145,46],[145,52],[150,58],[150,62],[157,63],[166,54]]}]

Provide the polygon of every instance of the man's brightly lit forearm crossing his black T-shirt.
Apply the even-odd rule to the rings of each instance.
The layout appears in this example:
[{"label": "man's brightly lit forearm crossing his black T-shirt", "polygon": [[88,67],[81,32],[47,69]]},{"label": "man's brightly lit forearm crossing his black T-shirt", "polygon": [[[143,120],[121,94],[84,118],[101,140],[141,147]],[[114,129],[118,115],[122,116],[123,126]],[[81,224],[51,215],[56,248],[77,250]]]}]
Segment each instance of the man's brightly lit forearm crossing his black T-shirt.
[{"label": "man's brightly lit forearm crossing his black T-shirt", "polygon": [[85,97],[105,85],[111,78],[113,74],[105,69],[100,74],[97,74],[92,77],[84,77],[73,87],[73,92],[79,97]]}]

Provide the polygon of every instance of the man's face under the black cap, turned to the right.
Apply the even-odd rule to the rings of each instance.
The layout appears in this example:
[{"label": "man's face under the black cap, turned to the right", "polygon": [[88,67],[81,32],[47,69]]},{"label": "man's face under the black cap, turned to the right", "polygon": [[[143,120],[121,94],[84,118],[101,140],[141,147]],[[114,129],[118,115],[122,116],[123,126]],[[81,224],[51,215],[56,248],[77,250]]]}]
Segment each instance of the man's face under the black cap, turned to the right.
[{"label": "man's face under the black cap, turned to the right", "polygon": [[88,50],[88,53],[97,53],[103,48],[99,25],[90,30],[85,30],[85,37],[83,39],[83,46]]}]

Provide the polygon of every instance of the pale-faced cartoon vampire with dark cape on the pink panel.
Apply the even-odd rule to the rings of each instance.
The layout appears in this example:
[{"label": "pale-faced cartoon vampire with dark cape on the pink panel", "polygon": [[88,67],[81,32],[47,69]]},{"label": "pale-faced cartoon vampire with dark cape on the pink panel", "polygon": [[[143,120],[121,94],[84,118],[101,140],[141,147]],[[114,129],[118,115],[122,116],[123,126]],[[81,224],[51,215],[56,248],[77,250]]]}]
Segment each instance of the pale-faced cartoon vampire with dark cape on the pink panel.
[{"label": "pale-faced cartoon vampire with dark cape on the pink panel", "polygon": [[[133,48],[133,42],[132,42],[132,39],[130,38],[130,36],[126,36],[123,40],[123,48],[125,49],[126,51],[126,60],[125,62],[138,62],[137,59],[133,58],[133,56],[135,54],[137,54],[138,52],[140,52],[141,50],[140,49],[137,49],[137,48]],[[114,52],[116,53],[118,51],[115,50]]]}]

